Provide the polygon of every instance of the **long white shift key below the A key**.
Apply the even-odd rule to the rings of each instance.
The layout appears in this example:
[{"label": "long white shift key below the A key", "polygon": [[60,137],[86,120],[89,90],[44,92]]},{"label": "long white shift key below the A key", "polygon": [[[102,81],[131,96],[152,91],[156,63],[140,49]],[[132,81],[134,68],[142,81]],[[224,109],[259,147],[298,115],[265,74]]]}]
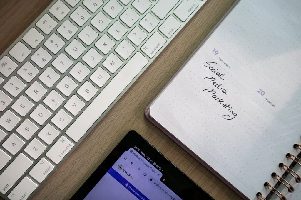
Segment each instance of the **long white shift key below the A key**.
[{"label": "long white shift key below the A key", "polygon": [[20,153],[10,165],[0,174],[1,193],[5,194],[14,183],[25,173],[25,171],[33,164],[29,158]]}]

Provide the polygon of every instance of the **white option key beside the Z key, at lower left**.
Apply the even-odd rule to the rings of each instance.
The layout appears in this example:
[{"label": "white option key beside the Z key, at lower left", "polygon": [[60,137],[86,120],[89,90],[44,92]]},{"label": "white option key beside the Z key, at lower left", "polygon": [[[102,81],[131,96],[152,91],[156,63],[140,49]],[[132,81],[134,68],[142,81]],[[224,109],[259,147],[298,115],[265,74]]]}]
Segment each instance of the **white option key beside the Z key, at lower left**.
[{"label": "white option key beside the Z key, at lower left", "polygon": [[48,176],[48,174],[54,169],[54,166],[45,158],[42,158],[37,164],[29,171],[29,175],[36,181],[42,183],[42,181]]}]

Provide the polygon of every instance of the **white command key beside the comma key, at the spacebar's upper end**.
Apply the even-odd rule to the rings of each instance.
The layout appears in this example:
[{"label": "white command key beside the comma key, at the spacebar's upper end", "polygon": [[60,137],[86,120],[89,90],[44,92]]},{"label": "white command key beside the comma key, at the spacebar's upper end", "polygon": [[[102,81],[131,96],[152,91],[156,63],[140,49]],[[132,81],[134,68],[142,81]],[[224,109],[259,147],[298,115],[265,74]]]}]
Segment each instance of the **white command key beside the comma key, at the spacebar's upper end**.
[{"label": "white command key beside the comma key, at the spacebar's upper end", "polygon": [[148,57],[152,58],[166,43],[166,39],[157,31],[148,38],[148,40],[140,48]]}]

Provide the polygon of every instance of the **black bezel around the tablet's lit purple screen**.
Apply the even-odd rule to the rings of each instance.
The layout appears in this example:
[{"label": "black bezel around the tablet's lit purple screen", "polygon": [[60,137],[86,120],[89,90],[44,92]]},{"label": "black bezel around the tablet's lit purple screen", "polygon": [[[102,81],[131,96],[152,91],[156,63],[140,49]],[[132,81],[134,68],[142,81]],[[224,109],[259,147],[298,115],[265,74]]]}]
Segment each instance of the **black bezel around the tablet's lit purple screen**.
[{"label": "black bezel around the tablet's lit purple screen", "polygon": [[[98,166],[98,168],[91,174],[84,184],[77,190],[71,199],[84,199],[94,186],[107,173],[112,165],[119,159],[119,157],[130,148],[138,147],[147,153],[154,160],[151,162],[160,163],[163,176],[160,181],[168,186],[175,194],[182,199],[213,199],[207,192],[201,189],[194,181],[192,181],[186,174],[163,156],[156,148],[148,143],[137,132],[130,131],[117,144],[106,159]],[[141,152],[141,151],[140,151]],[[139,153],[140,153],[139,152]],[[164,169],[164,171],[163,171]],[[167,173],[168,172],[168,173]],[[181,183],[181,184],[179,184]]]}]

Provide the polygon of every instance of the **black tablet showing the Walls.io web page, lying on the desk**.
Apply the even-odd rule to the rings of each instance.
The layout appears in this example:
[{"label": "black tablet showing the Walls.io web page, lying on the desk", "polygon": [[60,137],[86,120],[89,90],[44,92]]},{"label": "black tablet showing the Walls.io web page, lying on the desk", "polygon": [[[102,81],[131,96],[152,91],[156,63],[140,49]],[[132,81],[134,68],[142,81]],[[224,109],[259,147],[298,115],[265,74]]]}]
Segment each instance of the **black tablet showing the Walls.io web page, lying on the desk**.
[{"label": "black tablet showing the Walls.io web page, lying on the desk", "polygon": [[130,131],[71,199],[213,199],[137,132]]}]

